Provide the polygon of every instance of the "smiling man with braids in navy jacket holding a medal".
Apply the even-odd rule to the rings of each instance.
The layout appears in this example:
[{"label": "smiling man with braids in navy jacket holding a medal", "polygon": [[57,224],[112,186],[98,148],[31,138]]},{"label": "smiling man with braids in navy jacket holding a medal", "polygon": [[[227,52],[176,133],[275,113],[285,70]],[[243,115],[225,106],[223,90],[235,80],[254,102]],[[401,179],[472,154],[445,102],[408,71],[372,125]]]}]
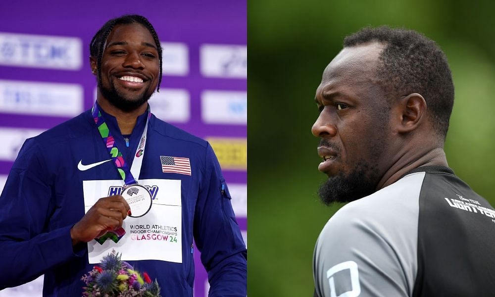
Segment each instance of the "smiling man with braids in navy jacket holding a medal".
[{"label": "smiling man with braids in navy jacket holding a medal", "polygon": [[161,82],[153,26],[112,19],[90,52],[93,108],[28,139],[5,183],[0,290],[45,274],[44,296],[80,297],[81,277],[115,250],[162,296],[192,296],[194,239],[209,296],[246,296],[246,247],[212,148],[148,107]]}]

